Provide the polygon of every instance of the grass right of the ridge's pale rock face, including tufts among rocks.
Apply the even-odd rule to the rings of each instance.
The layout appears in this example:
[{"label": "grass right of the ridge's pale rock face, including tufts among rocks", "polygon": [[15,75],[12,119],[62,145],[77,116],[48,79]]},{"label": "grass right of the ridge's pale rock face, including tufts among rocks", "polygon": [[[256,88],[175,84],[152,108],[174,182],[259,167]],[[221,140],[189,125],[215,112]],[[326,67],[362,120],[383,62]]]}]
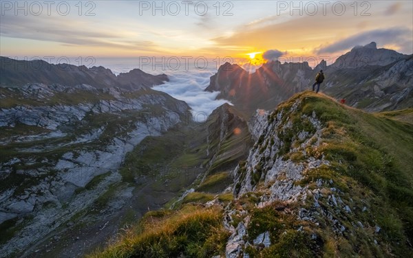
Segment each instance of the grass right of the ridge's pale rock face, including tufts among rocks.
[{"label": "grass right of the ridge's pale rock face, including tufts among rocks", "polygon": [[[286,113],[297,99],[301,99],[298,112]],[[324,214],[332,214],[337,222],[346,227],[343,235],[333,232],[334,224],[319,215],[319,227],[309,224],[308,230],[302,234],[292,231],[293,228],[286,228],[286,233],[282,234],[285,238],[272,239],[273,245],[270,248],[260,251],[259,248],[249,247],[251,257],[403,257],[406,253],[411,253],[413,128],[389,118],[390,115],[397,117],[410,112],[403,110],[390,115],[368,114],[338,104],[325,95],[308,92],[295,95],[288,102],[279,105],[277,110],[284,110],[282,121],[292,121],[292,128],[278,131],[279,139],[286,142],[278,155],[284,155],[284,159],[298,163],[310,156],[316,159],[324,157],[330,161],[328,166],[321,165],[306,170],[304,179],[295,184],[314,189],[316,180],[331,180],[332,183],[321,187],[324,196],[339,196],[350,205],[352,213],[347,213],[342,207],[331,206],[326,199],[320,198],[319,209]],[[301,115],[310,116],[313,112],[324,128],[321,144],[318,148],[307,148],[305,154],[301,150],[298,154],[290,152],[290,146],[299,145],[297,134],[301,130],[308,130],[304,129],[308,128],[305,123],[301,123],[302,126],[297,124],[297,118]],[[270,115],[271,122],[275,120],[275,114]],[[256,148],[265,144],[266,139],[262,139]],[[258,178],[253,179],[253,183],[257,184]],[[339,193],[332,193],[330,187],[339,189]],[[312,196],[301,207],[313,209]],[[363,211],[365,207],[367,211]],[[279,214],[276,211],[268,208],[248,209],[253,209],[251,222],[254,224],[248,229],[252,239],[266,228],[279,226]],[[317,211],[320,213],[319,209]],[[294,220],[293,218],[293,224],[297,222]],[[362,222],[364,228],[354,227],[352,223],[357,221]],[[380,233],[374,233],[375,225],[381,227]],[[311,242],[308,238],[310,232],[317,235],[316,242]],[[275,235],[279,235],[276,230]],[[374,239],[381,244],[374,244]],[[302,245],[303,242],[307,244]]]}]

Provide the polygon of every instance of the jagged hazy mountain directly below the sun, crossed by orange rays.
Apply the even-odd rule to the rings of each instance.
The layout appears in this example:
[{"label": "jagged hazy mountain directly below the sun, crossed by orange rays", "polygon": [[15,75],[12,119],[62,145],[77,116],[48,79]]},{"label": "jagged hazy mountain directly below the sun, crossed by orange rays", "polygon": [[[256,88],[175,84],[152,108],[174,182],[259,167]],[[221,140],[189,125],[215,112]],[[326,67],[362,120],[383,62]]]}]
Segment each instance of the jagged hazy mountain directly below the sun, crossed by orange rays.
[{"label": "jagged hazy mountain directly below the sun, crossed by orange rays", "polygon": [[268,62],[254,73],[226,62],[211,76],[205,91],[220,91],[217,98],[229,99],[249,117],[257,108],[273,109],[310,83],[312,70],[307,62],[281,64]]}]

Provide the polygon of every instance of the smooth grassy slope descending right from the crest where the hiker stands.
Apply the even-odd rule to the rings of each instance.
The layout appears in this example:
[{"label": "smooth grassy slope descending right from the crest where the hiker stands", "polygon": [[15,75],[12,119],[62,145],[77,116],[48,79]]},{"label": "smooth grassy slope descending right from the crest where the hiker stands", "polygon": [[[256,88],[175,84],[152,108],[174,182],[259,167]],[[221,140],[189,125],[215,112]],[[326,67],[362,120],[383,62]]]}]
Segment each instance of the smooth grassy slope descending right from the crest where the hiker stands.
[{"label": "smooth grassy slope descending right from the crest where the hiker stands", "polygon": [[[315,111],[326,126],[320,147],[308,153],[315,158],[324,155],[331,164],[309,170],[300,184],[311,189],[318,178],[332,179],[334,183],[330,187],[341,191],[341,199],[350,203],[353,211],[335,211],[320,201],[321,207],[337,215],[337,220],[349,230],[337,235],[330,231],[326,221],[321,231],[315,230],[324,242],[318,255],[389,257],[410,253],[409,241],[413,239],[412,126],[342,106],[324,95],[301,93],[297,97],[303,99],[301,113],[310,115]],[[290,106],[295,98],[284,105]],[[295,115],[299,114],[291,116]],[[329,187],[324,191],[331,194]],[[363,211],[364,207],[367,212]],[[365,230],[354,229],[358,221],[364,224]],[[378,235],[374,233],[375,225],[382,228]],[[373,244],[374,238],[381,243],[379,246]]]}]

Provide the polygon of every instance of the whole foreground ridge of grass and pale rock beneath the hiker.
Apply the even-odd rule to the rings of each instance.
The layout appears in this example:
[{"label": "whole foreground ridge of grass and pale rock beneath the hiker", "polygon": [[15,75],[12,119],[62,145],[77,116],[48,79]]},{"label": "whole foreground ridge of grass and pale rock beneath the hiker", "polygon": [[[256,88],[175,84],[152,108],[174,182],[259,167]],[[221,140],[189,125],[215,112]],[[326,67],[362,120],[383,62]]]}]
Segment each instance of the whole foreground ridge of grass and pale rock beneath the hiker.
[{"label": "whole foreground ridge of grass and pale rock beneath the hiker", "polygon": [[233,194],[195,189],[88,257],[412,252],[411,126],[308,91],[256,116],[255,144],[231,170]]}]

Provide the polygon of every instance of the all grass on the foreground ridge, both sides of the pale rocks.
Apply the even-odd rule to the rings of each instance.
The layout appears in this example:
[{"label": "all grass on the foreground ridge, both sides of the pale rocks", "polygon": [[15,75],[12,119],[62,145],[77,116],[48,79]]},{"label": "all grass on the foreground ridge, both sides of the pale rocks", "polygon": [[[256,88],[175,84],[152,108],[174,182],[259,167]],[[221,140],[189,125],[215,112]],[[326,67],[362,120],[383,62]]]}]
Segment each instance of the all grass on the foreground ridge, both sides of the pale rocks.
[{"label": "all grass on the foreground ridge, both sides of the pale rocks", "polygon": [[[317,179],[332,180],[332,183],[323,186],[321,192],[328,196],[334,187],[337,189],[336,195],[350,205],[352,212],[331,207],[322,198],[319,198],[319,204],[325,213],[334,215],[346,231],[333,231],[334,225],[321,215],[319,226],[297,220],[299,209],[313,209],[313,198],[310,196],[302,204],[277,202],[263,209],[255,206],[259,202],[259,191],[247,193],[238,200],[226,198],[224,202],[230,202],[231,207],[246,210],[251,215],[246,240],[251,242],[258,234],[271,231],[270,248],[262,250],[250,246],[248,253],[251,257],[406,257],[411,254],[412,126],[382,114],[363,113],[342,106],[330,97],[308,92],[295,95],[279,105],[277,110],[289,108],[297,98],[303,100],[299,106],[301,112],[289,114],[291,121],[295,121],[301,130],[303,125],[295,118],[302,114],[311,115],[315,111],[325,127],[321,145],[317,150],[307,150],[306,156],[298,155],[294,159],[294,153],[282,151],[280,154],[295,162],[323,155],[330,161],[328,167],[308,170],[304,179],[296,183],[314,189]],[[290,145],[295,144],[294,139],[293,134]],[[216,176],[220,178],[223,175]],[[210,179],[213,182],[214,178]],[[176,211],[149,213],[136,226],[137,229],[128,231],[116,244],[91,257],[178,257],[181,253],[187,257],[222,255],[228,237],[220,226],[222,211],[201,206],[194,212],[189,207],[196,206],[188,206],[212,198],[211,194],[193,193],[183,200],[183,203],[189,204],[181,204]],[[176,216],[181,219],[177,220]],[[354,226],[357,222],[361,222],[363,228]],[[381,227],[379,233],[374,233],[375,225]],[[297,231],[301,226],[302,230]],[[179,231],[178,228],[182,227],[184,231]],[[201,230],[202,235],[194,231],[195,228]],[[313,239],[313,234],[318,236],[317,239]],[[215,246],[210,246],[211,239],[214,239]],[[377,239],[379,244],[374,244],[373,239]],[[195,250],[214,251],[196,253]]]}]

